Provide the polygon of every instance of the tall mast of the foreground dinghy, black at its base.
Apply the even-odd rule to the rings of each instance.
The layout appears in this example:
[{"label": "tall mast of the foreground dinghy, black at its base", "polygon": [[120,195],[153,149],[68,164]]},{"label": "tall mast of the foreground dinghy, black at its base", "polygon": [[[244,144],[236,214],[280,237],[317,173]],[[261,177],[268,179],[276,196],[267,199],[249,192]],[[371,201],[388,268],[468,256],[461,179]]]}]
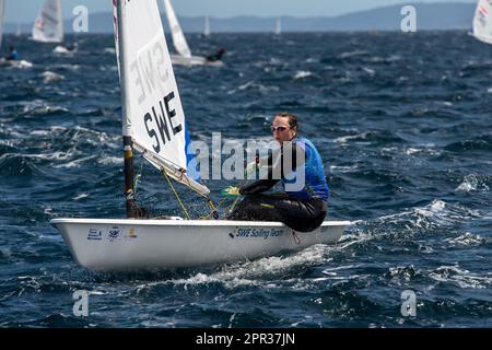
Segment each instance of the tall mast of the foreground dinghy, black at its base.
[{"label": "tall mast of the foreground dinghy, black at its base", "polygon": [[134,199],[134,189],[133,189],[133,178],[134,178],[134,168],[133,168],[133,143],[131,140],[131,126],[128,118],[128,113],[130,112],[130,106],[127,98],[127,89],[128,85],[128,77],[124,69],[125,60],[127,57],[126,45],[124,37],[126,36],[126,26],[124,25],[126,13],[124,11],[122,2],[125,0],[116,0],[117,1],[117,18],[118,18],[118,51],[119,51],[119,74],[120,74],[120,83],[121,83],[121,106],[122,106],[122,138],[124,138],[124,155],[125,155],[125,200],[127,208],[127,218],[138,218],[137,210],[137,201]]}]

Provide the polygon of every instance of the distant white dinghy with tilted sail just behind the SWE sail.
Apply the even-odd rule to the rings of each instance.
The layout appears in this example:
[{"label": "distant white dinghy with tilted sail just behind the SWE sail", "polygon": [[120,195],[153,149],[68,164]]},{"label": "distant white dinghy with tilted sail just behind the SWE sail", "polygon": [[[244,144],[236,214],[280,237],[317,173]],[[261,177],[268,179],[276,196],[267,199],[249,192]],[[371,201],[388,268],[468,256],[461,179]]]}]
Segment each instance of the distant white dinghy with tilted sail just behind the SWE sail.
[{"label": "distant white dinghy with tilted sail just behind the SWE sail", "polygon": [[210,66],[210,67],[222,67],[224,63],[219,60],[209,60],[206,57],[192,56],[189,49],[188,43],[186,42],[185,34],[183,33],[181,26],[177,20],[176,13],[174,12],[173,5],[169,0],[163,0],[164,7],[166,9],[167,22],[171,27],[171,36],[173,38],[173,45],[178,55],[171,55],[171,60],[173,65],[179,66]]}]

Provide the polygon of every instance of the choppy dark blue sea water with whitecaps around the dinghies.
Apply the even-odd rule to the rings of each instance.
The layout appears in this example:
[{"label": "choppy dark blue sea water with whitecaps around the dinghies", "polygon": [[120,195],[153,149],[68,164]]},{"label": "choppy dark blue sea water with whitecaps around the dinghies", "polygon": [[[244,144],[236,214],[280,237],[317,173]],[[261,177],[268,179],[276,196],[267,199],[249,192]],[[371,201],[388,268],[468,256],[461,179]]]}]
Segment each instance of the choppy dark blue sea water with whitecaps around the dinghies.
[{"label": "choppy dark blue sea water with whitecaps around the dinghies", "polygon": [[[265,139],[276,113],[297,114],[329,172],[330,219],[355,224],[336,246],[101,275],[48,222],[125,215],[113,36],[78,36],[73,56],[12,40],[34,67],[0,69],[0,326],[492,325],[491,46],[461,32],[190,35],[194,54],[229,50],[222,69],[175,70],[191,138]],[[219,200],[234,183],[208,185]],[[138,195],[183,214],[151,166]],[[89,317],[72,314],[75,290],[91,292]]]}]

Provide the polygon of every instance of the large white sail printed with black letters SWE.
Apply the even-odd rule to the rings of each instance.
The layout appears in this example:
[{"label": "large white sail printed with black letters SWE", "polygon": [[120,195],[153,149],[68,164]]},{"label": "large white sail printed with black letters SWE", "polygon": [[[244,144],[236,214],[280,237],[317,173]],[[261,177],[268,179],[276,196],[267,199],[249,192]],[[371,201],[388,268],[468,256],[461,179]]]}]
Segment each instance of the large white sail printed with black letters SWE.
[{"label": "large white sail printed with black letters SWE", "polygon": [[113,0],[124,136],[144,158],[201,195],[187,170],[185,114],[156,0]]}]

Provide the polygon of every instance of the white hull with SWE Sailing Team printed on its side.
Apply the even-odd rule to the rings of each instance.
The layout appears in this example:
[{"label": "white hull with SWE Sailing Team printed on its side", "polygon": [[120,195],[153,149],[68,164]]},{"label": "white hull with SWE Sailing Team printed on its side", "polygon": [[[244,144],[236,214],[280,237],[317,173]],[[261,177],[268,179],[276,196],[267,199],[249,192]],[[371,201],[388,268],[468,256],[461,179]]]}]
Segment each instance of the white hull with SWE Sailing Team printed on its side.
[{"label": "white hull with SWE Sailing Team printed on its side", "polygon": [[279,222],[54,219],[74,259],[98,271],[198,267],[335,244],[350,222],[312,233]]}]

